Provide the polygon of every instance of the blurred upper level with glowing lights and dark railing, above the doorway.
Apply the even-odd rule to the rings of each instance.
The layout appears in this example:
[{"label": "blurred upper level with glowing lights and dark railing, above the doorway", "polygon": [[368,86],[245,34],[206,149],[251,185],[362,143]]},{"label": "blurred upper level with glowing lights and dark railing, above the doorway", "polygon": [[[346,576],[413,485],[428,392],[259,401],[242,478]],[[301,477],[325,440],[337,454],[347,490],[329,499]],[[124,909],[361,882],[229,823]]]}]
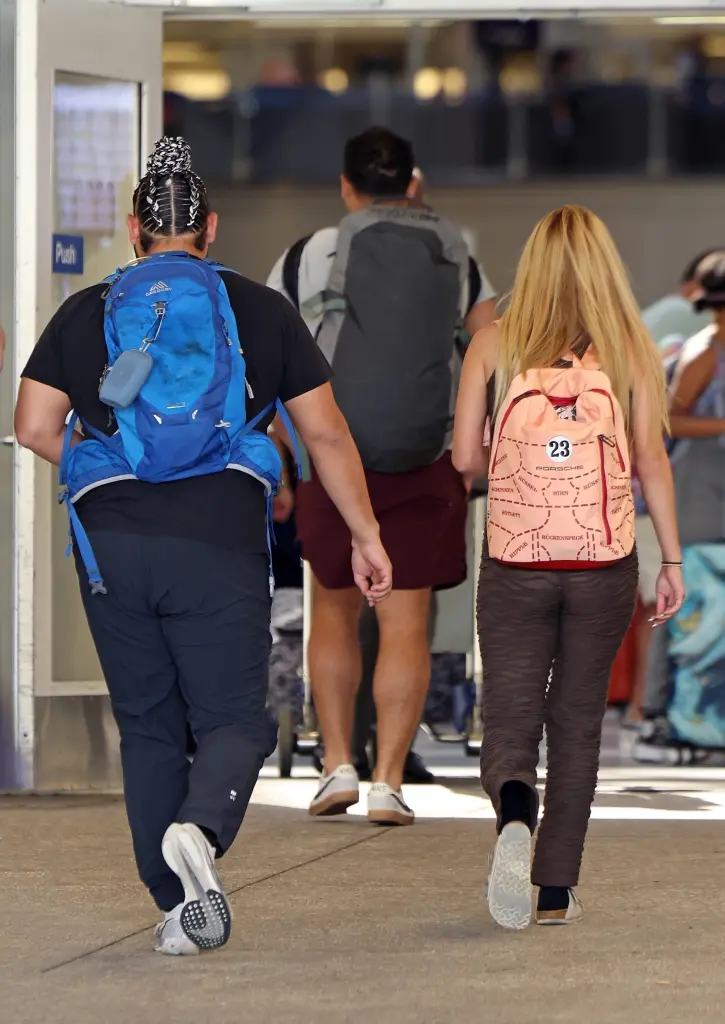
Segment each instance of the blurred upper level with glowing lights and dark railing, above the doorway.
[{"label": "blurred upper level with glowing lights and dark railing, above the doorway", "polygon": [[167,131],[210,180],[326,183],[379,123],[434,186],[725,169],[717,17],[178,20],[164,61]]}]

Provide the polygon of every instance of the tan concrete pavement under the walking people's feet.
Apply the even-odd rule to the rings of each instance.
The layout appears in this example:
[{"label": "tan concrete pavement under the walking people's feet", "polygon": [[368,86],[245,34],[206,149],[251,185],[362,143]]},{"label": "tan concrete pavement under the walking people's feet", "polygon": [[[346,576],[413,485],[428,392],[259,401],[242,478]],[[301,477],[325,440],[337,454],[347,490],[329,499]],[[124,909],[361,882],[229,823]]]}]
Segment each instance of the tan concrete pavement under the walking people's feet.
[{"label": "tan concrete pavement under the walking people's feet", "polygon": [[721,1022],[720,822],[596,821],[564,929],[505,933],[488,821],[373,830],[253,807],[218,953],[150,951],[158,915],[114,799],[0,800],[0,1020],[12,1024]]}]

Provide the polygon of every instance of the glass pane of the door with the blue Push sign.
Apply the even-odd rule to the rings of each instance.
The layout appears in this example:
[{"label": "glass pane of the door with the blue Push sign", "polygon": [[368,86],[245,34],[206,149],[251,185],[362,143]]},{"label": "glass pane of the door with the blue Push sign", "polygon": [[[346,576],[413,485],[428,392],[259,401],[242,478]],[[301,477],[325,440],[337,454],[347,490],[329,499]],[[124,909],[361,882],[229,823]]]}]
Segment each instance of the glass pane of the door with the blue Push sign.
[{"label": "glass pane of the door with the blue Push sign", "polygon": [[[126,214],[141,160],[140,87],[58,71],[53,85],[51,304],[55,309],[133,255]],[[104,692],[76,582],[66,558],[68,517],[52,506],[52,660],[48,695]]]}]

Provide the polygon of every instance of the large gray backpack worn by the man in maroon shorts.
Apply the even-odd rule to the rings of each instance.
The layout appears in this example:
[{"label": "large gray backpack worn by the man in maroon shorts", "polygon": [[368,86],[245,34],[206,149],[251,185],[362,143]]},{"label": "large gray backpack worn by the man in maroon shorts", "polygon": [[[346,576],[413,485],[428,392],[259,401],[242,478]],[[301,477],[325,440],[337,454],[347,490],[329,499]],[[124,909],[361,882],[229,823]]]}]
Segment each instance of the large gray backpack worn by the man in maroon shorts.
[{"label": "large gray backpack worn by the man in maroon shorts", "polygon": [[366,469],[407,472],[447,449],[467,286],[463,236],[431,210],[374,204],[342,220],[328,287],[300,309],[323,315],[317,343]]}]

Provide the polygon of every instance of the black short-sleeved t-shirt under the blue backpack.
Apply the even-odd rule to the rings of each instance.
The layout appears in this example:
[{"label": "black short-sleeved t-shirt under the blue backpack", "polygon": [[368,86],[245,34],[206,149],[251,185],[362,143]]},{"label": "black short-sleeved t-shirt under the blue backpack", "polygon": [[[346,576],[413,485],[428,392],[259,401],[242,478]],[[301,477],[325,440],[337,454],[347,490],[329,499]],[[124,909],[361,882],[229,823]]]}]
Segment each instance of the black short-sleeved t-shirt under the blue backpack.
[{"label": "black short-sleeved t-shirt under the blue backpack", "polygon": [[[254,397],[251,419],[276,398],[289,401],[330,379],[330,367],[303,321],[282,295],[231,271],[222,271]],[[98,398],[105,369],[104,285],[71,296],[35,346],[23,376],[63,391],[82,421],[112,434],[112,410]],[[266,430],[273,414],[259,425]],[[116,530],[185,537],[233,550],[266,551],[262,485],[246,473],[222,473],[146,483],[121,480],[89,492],[77,503],[89,531]]]}]

